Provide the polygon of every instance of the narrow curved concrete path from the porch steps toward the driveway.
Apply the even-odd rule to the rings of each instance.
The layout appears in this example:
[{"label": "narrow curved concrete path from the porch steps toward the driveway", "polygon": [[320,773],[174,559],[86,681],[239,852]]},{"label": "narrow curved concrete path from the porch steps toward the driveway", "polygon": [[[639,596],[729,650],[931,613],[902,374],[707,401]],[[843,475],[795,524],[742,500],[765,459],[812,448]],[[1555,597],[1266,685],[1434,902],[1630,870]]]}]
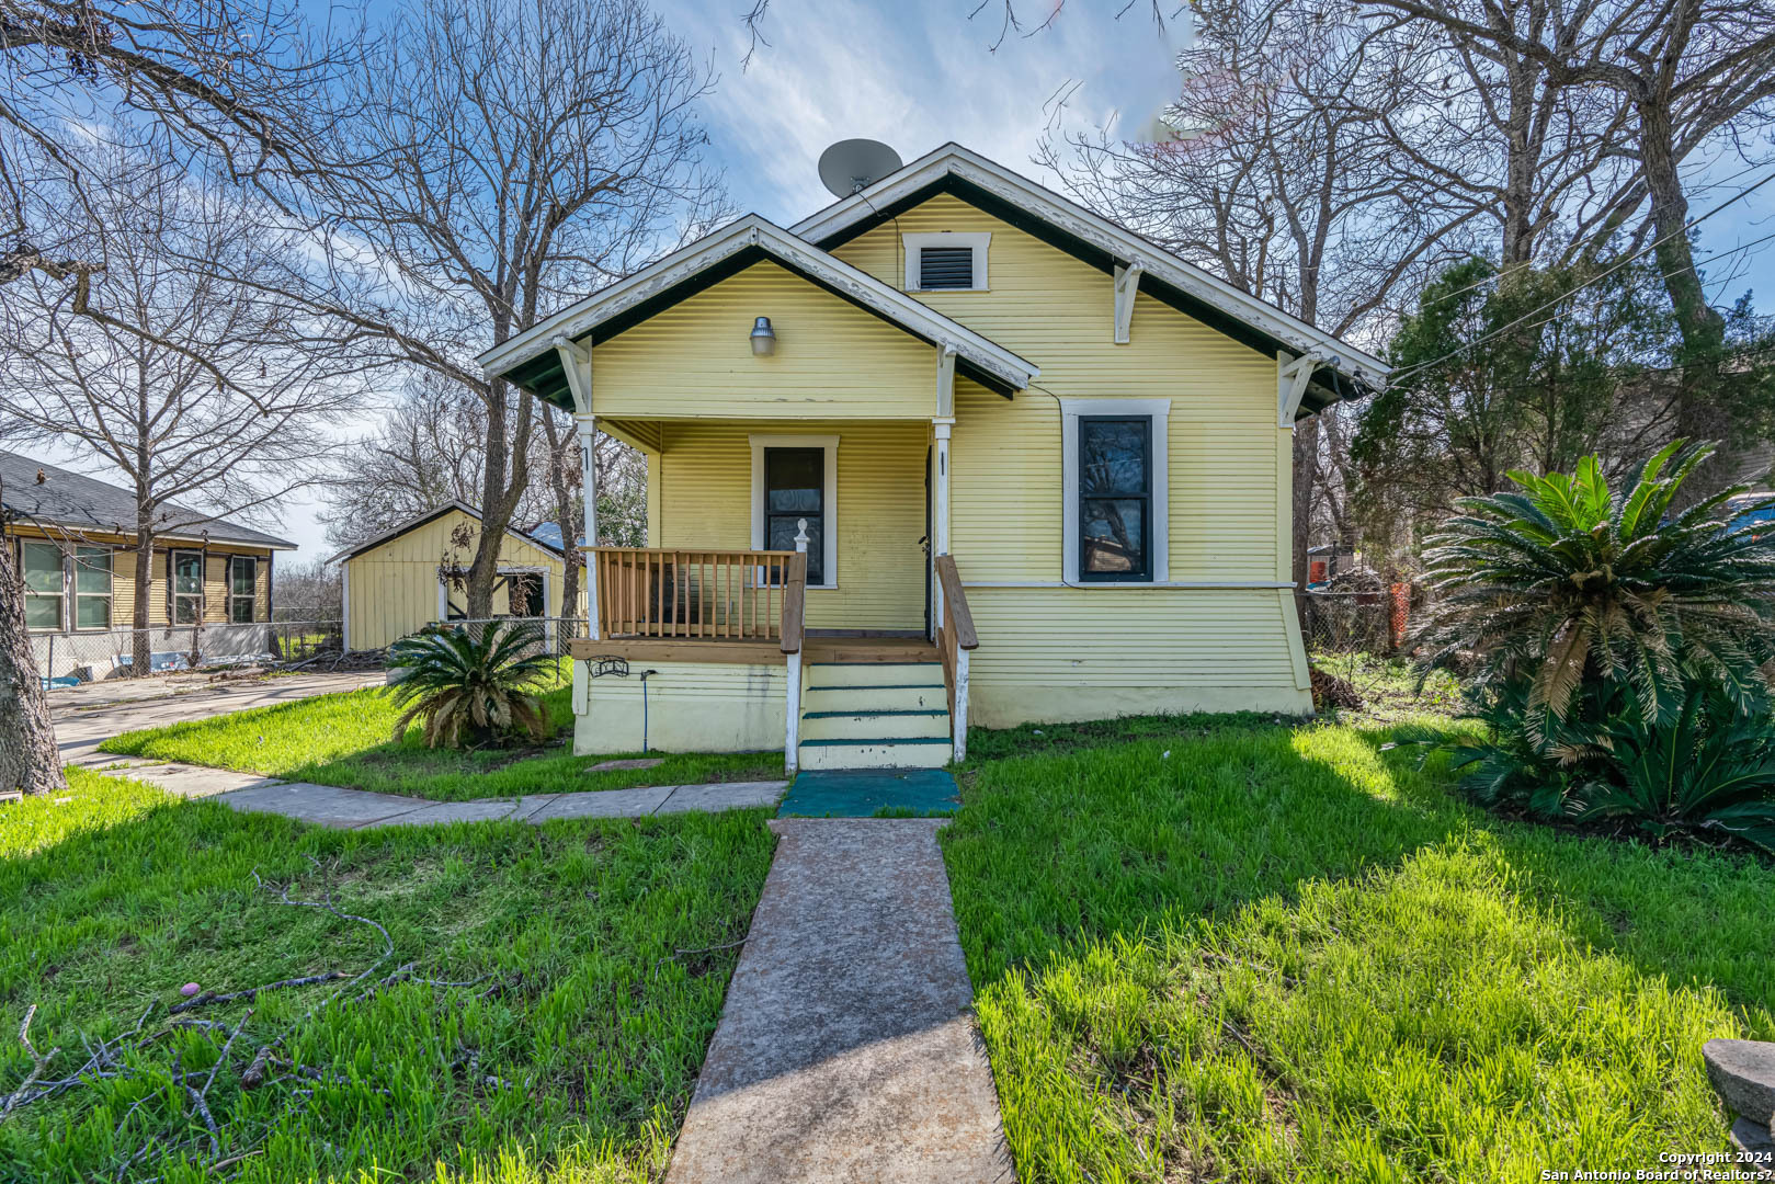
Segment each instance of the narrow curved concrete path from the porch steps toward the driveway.
[{"label": "narrow curved concrete path from the porch steps toward the driveway", "polygon": [[469,802],[433,802],[424,797],[371,793],[337,785],[279,781],[254,772],[206,765],[165,765],[114,760],[103,753],[82,762],[147,781],[179,797],[213,797],[248,813],[284,815],[298,822],[360,831],[385,825],[437,825],[444,822],[548,822],[550,818],[643,818],[692,809],[747,809],[776,806],[788,781],[728,781],[717,785],[650,785],[634,790],[588,790],[580,793],[525,793],[483,797]]}]

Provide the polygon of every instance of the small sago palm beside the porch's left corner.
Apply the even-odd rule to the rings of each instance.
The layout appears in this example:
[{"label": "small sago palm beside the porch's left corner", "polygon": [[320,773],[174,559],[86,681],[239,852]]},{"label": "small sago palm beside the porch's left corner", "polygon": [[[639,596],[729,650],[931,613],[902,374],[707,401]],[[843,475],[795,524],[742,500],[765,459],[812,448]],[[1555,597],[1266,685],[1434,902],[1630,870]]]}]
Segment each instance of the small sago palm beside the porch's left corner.
[{"label": "small sago palm beside the porch's left corner", "polygon": [[426,747],[462,747],[463,731],[472,742],[522,731],[548,735],[548,719],[538,698],[554,659],[543,651],[534,625],[490,625],[476,637],[463,630],[403,637],[389,646],[389,666],[406,675],[392,687],[394,701],[406,706],[394,724],[394,740],[415,719],[424,719]]}]

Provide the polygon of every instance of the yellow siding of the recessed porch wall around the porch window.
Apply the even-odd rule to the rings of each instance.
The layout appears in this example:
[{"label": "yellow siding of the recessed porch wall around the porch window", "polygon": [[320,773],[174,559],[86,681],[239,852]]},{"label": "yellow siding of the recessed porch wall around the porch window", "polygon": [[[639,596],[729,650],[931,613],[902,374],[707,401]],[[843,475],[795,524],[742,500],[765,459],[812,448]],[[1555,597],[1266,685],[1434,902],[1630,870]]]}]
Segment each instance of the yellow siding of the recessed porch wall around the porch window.
[{"label": "yellow siding of the recessed porch wall around the porch window", "polygon": [[905,422],[669,422],[659,547],[753,545],[751,435],[838,437],[838,588],[808,591],[808,628],[923,628],[927,428]]}]

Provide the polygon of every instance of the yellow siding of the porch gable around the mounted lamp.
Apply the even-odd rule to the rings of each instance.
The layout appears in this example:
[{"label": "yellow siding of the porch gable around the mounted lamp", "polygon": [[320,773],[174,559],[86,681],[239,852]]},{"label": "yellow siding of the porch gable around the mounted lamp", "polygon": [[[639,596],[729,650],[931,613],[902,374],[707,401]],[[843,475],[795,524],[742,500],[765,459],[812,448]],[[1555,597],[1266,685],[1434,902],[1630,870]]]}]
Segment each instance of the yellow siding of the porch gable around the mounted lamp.
[{"label": "yellow siding of the porch gable around the mounted lamp", "polygon": [[[754,357],[769,316],[774,357]],[[591,407],[625,417],[930,417],[935,350],[774,263],[758,263],[593,350]]]}]

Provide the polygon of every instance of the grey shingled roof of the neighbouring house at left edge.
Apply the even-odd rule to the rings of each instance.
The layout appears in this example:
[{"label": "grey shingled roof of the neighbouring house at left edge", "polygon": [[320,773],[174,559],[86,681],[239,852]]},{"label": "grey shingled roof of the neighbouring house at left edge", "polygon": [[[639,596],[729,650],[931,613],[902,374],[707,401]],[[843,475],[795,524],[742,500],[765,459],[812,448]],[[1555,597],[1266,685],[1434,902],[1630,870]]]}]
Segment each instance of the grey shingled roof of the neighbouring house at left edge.
[{"label": "grey shingled roof of the neighbouring house at left edge", "polygon": [[[43,483],[37,481],[39,470],[46,478]],[[7,517],[64,531],[135,534],[135,493],[21,453],[0,453],[0,509],[5,509]],[[211,543],[247,543],[268,550],[296,549],[289,540],[199,509],[167,502],[160,511],[170,517],[156,533],[165,540],[201,541],[208,536]]]}]

